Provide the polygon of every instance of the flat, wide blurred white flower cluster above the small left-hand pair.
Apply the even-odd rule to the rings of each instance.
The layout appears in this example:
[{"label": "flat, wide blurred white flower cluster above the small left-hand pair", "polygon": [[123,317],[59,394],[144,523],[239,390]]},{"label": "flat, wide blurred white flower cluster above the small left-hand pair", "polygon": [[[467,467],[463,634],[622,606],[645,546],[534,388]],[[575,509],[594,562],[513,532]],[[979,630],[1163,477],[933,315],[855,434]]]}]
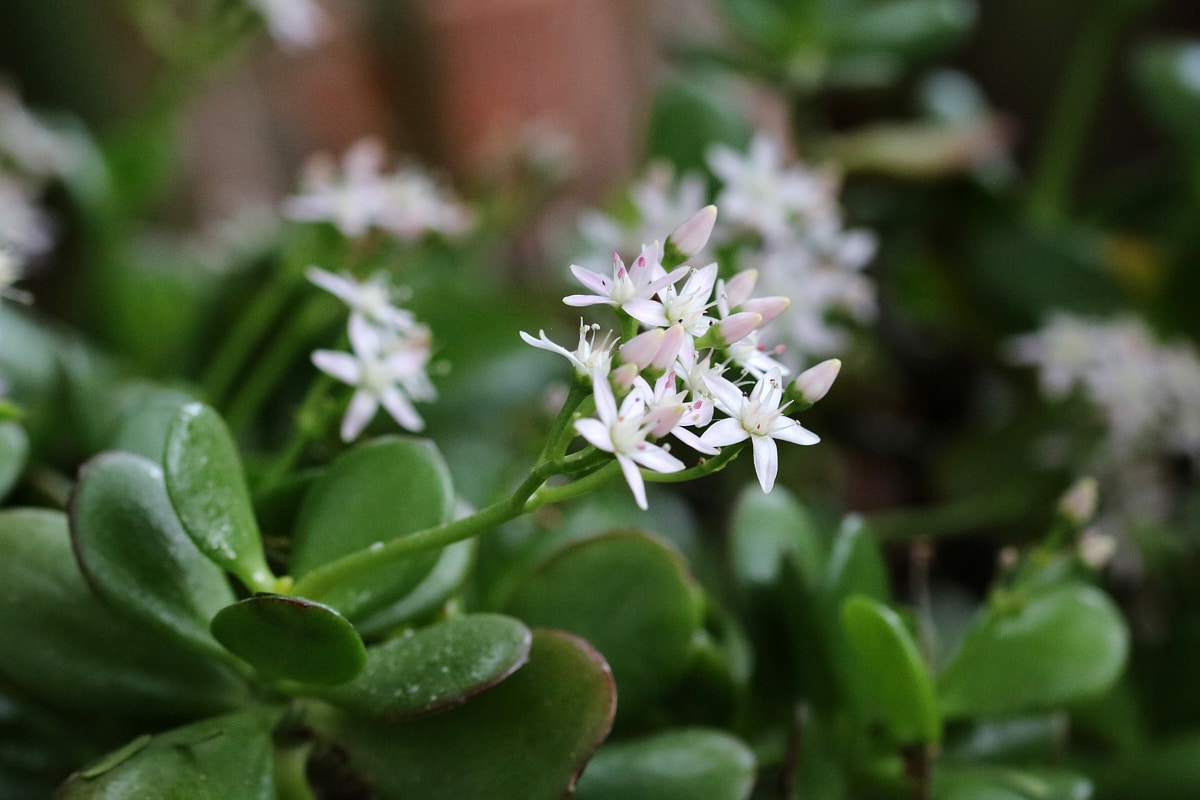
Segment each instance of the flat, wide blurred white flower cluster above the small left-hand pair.
[{"label": "flat, wide blurred white flower cluster above the small left-hand pair", "polygon": [[384,161],[383,144],[370,137],[346,151],[341,169],[329,156],[314,156],[305,167],[301,192],[286,200],[284,215],[330,222],[350,239],[372,229],[404,241],[470,230],[470,213],[446,188],[415,166],[385,173]]}]

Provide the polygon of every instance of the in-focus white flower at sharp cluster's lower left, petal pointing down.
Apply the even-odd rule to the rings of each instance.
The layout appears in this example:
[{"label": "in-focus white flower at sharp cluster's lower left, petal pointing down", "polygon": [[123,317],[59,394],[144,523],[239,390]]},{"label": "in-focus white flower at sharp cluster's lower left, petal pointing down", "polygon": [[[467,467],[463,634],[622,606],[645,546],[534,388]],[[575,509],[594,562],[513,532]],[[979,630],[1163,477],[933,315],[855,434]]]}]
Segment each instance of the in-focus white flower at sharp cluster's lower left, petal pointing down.
[{"label": "in-focus white flower at sharp cluster's lower left, petal pointing down", "polygon": [[638,465],[655,473],[678,473],[684,464],[665,449],[646,440],[660,420],[659,415],[647,414],[646,401],[638,392],[626,395],[618,409],[608,378],[596,373],[593,396],[599,419],[577,420],[575,429],[593,446],[617,457],[637,507],[644,511],[648,507],[646,485]]}]

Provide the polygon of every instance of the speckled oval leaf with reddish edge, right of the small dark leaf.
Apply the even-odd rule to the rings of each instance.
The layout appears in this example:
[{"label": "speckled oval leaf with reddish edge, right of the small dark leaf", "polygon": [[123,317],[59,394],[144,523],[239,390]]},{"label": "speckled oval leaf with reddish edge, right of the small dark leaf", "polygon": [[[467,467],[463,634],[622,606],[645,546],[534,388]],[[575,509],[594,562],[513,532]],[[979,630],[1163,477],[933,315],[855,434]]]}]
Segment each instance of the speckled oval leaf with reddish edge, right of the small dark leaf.
[{"label": "speckled oval leaf with reddish edge, right of the small dark leaf", "polygon": [[319,697],[366,716],[410,717],[461,705],[529,658],[520,620],[470,614],[422,627],[367,650],[362,673]]}]

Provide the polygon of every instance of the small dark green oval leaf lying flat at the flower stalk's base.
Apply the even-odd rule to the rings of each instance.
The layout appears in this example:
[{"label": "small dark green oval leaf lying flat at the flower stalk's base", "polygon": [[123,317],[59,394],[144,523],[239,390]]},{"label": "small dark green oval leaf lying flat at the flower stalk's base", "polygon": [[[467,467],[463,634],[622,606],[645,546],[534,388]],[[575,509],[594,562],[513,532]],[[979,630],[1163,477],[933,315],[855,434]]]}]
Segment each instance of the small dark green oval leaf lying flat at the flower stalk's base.
[{"label": "small dark green oval leaf lying flat at the flower stalk's base", "polygon": [[256,595],[222,608],[212,636],[266,678],[337,686],[353,680],[367,652],[350,622],[329,606]]}]

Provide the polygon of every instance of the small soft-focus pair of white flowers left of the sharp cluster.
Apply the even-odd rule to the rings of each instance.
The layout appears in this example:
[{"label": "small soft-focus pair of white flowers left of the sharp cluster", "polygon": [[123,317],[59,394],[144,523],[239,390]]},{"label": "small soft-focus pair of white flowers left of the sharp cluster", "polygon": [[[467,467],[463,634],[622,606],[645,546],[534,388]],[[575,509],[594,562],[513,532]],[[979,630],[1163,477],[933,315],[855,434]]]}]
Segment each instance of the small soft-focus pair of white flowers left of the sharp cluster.
[{"label": "small soft-focus pair of white flowers left of the sharp cluster", "polygon": [[342,440],[356,439],[380,405],[402,428],[421,431],[425,421],[413,403],[437,398],[427,372],[432,353],[430,329],[410,312],[392,305],[392,287],[384,273],[359,282],[313,266],[307,276],[350,308],[347,325],[350,353],[312,354],[318,369],[354,386],[342,419]]}]

